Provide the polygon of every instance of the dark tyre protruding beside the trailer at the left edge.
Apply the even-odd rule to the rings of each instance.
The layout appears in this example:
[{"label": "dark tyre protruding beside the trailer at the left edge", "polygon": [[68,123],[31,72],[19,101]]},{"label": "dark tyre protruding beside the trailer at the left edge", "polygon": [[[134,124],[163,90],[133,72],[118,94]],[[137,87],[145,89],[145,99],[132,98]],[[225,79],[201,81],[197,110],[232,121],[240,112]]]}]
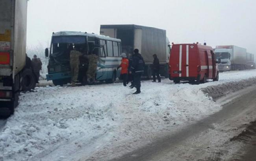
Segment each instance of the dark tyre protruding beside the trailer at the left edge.
[{"label": "dark tyre protruding beside the trailer at the left edge", "polygon": [[24,69],[24,71],[22,71],[22,82],[21,82],[22,91],[30,91],[34,89],[35,83],[36,83],[35,79],[36,78],[32,70]]}]

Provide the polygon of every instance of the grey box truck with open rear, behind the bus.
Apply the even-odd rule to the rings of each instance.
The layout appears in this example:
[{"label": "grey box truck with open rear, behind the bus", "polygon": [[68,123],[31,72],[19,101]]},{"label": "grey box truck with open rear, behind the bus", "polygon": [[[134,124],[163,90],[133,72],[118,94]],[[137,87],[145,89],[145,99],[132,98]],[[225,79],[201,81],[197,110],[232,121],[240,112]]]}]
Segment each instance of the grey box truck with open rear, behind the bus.
[{"label": "grey box truck with open rear, behind the bus", "polygon": [[169,77],[171,48],[165,30],[138,25],[100,25],[100,34],[121,39],[122,51],[127,55],[139,49],[145,61],[144,76],[148,78],[152,76],[152,55],[156,54],[160,61],[160,75]]}]

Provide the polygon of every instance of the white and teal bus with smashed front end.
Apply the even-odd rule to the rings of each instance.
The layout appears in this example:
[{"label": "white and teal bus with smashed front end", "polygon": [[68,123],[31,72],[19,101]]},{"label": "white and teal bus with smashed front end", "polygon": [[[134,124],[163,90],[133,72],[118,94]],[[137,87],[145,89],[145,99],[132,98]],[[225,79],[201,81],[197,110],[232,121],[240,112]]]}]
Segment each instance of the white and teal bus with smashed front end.
[{"label": "white and teal bus with smashed front end", "polygon": [[[121,40],[110,38],[93,33],[82,33],[76,31],[60,31],[52,33],[50,51],[45,49],[45,56],[49,57],[47,80],[52,80],[54,85],[64,85],[71,81],[70,76],[70,47],[74,44],[81,44],[83,54],[94,53],[98,55],[98,67],[96,71],[96,81],[105,80],[113,83],[120,76],[117,66],[121,63]],[[50,55],[49,55],[50,53]],[[88,64],[82,64],[88,65]],[[80,66],[80,73],[83,67]],[[81,76],[79,76],[81,78]],[[82,80],[79,79],[81,82]]]}]

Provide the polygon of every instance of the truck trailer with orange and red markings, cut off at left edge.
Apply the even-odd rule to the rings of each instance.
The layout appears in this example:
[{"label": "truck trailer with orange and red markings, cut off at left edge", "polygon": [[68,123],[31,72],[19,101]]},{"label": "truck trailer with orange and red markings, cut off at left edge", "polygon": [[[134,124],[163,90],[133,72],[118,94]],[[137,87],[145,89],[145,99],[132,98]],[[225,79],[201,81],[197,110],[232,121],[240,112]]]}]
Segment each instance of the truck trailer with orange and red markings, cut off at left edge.
[{"label": "truck trailer with orange and red markings, cut off at left edge", "polygon": [[10,115],[19,92],[35,88],[37,78],[26,64],[27,0],[0,4],[0,115]]}]

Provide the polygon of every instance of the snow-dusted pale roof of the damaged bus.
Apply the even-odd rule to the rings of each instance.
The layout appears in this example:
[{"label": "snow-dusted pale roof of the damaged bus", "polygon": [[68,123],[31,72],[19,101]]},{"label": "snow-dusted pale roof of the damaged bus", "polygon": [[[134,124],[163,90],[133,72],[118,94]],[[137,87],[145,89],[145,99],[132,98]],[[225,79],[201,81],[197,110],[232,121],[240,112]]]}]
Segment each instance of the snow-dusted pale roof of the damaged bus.
[{"label": "snow-dusted pale roof of the damaged bus", "polygon": [[98,35],[94,33],[83,33],[83,32],[78,32],[78,31],[59,31],[56,33],[52,33],[53,37],[58,37],[58,36],[88,36],[88,37],[96,37],[104,40],[111,40],[111,41],[116,41],[116,42],[121,42],[120,39],[118,38],[111,38],[111,37],[106,37],[104,35]]}]

